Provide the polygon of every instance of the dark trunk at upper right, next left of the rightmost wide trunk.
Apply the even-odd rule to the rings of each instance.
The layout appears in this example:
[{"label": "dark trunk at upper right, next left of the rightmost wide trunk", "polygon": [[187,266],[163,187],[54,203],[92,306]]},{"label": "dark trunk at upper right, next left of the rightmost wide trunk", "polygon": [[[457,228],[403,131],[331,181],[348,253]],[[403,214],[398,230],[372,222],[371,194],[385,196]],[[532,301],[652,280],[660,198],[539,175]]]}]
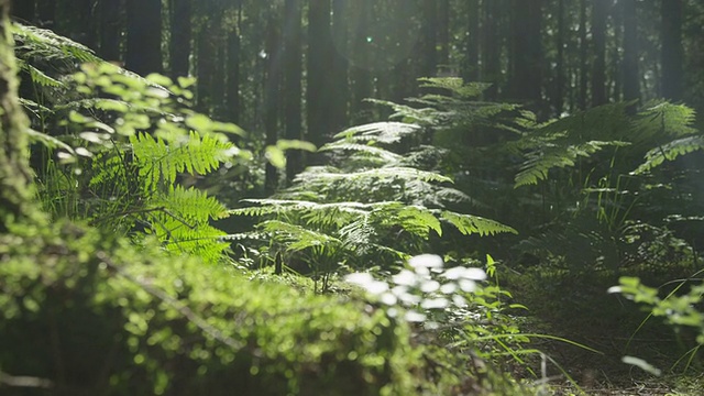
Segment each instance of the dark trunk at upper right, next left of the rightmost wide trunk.
[{"label": "dark trunk at upper right, next left of the rightmost wide trunk", "polygon": [[622,0],[624,11],[624,100],[640,99],[636,0]]}]

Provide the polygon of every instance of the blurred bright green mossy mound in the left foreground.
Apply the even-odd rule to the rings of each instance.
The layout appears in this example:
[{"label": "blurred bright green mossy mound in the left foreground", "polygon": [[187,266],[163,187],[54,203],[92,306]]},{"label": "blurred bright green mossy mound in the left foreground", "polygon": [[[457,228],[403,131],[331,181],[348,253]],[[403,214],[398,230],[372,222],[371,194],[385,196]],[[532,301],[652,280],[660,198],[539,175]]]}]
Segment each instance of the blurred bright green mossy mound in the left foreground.
[{"label": "blurred bright green mossy mound in the left foreground", "polygon": [[422,349],[408,327],[363,302],[174,260],[151,240],[136,252],[65,222],[0,241],[4,372],[72,394],[443,393],[411,374]]}]

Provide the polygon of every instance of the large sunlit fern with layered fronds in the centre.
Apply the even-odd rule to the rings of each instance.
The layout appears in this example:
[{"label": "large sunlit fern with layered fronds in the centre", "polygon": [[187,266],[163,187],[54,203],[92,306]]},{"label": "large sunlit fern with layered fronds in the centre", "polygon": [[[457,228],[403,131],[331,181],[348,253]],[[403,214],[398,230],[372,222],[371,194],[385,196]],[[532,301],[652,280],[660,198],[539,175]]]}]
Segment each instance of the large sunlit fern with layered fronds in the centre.
[{"label": "large sunlit fern with layered fronds in the centre", "polygon": [[447,187],[450,177],[424,168],[428,153],[438,151],[394,151],[422,132],[416,124],[389,122],[339,133],[337,141],[320,148],[332,165],[309,167],[275,197],[248,199],[245,204],[255,206],[232,210],[262,218],[256,231],[232,238],[258,240],[264,233],[271,243],[266,262],[284,251],[289,263],[305,263],[298,268],[292,263],[296,271],[328,274],[405,261],[428,249],[432,238],[442,237],[444,224],[464,235],[515,232],[499,222],[447,209],[468,197]]}]

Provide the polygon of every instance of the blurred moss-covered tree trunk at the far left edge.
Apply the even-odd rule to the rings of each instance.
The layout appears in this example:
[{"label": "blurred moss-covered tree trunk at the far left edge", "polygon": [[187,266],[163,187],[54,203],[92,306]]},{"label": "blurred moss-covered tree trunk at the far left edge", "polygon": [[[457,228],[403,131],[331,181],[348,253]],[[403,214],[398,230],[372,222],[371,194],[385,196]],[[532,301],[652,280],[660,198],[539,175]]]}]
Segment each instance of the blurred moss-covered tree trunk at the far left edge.
[{"label": "blurred moss-covered tree trunk at the far left edge", "polygon": [[0,232],[11,221],[33,217],[28,160],[28,119],[18,99],[10,1],[0,0]]}]

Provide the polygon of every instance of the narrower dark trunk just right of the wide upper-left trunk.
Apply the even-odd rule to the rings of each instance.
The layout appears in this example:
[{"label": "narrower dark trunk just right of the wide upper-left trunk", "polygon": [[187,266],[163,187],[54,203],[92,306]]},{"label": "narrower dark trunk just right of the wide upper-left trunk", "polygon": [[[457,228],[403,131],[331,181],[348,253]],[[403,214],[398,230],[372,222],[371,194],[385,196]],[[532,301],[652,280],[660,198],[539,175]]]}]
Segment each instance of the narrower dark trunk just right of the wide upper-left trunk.
[{"label": "narrower dark trunk just right of the wide upper-left trunk", "polygon": [[172,78],[188,76],[190,69],[191,0],[170,0],[170,32],[168,43]]}]

